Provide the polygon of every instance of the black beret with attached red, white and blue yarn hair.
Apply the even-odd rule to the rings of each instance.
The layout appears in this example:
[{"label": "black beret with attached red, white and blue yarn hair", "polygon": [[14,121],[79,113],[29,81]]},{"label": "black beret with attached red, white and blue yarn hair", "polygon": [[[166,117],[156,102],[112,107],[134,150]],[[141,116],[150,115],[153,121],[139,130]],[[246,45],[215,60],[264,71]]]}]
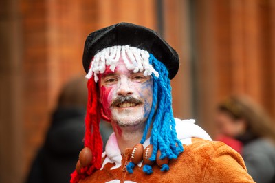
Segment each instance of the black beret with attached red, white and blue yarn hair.
[{"label": "black beret with attached red, white and blue yarn hair", "polygon": [[[99,51],[98,51],[99,50]],[[150,144],[153,153],[150,160],[156,160],[157,151],[160,159],[175,159],[184,151],[175,131],[175,120],[172,109],[170,79],[177,73],[179,59],[173,50],[156,32],[131,23],[119,23],[91,33],[85,42],[83,65],[87,72],[89,98],[85,118],[85,147],[93,153],[91,166],[80,169],[80,173],[72,173],[71,182],[94,173],[101,168],[102,138],[100,136],[100,118],[109,120],[102,112],[98,98],[97,74],[104,73],[106,66],[115,70],[118,60],[122,59],[129,70],[144,72],[144,76],[152,76],[153,101],[151,112],[140,143],[146,140],[151,128]],[[93,58],[91,60],[91,58]],[[89,63],[89,64],[88,64]],[[129,173],[133,173],[133,163],[127,165]],[[168,171],[168,164],[162,165],[162,171]],[[151,166],[145,165],[143,171],[153,173]]]}]

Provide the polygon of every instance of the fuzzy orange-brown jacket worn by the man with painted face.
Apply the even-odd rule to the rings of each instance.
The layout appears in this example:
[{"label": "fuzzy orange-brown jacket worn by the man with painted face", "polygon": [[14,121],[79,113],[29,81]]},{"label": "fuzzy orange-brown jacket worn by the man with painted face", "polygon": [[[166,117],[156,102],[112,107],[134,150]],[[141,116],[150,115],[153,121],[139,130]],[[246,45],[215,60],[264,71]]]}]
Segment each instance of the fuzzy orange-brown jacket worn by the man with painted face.
[{"label": "fuzzy orange-brown jacket worn by the man with painted face", "polygon": [[142,166],[135,166],[133,174],[126,171],[131,149],[122,155],[122,166],[115,169],[107,163],[80,182],[254,182],[248,174],[241,155],[223,142],[192,138],[177,160],[170,160],[169,171],[162,172],[153,164],[153,173],[147,175]]}]

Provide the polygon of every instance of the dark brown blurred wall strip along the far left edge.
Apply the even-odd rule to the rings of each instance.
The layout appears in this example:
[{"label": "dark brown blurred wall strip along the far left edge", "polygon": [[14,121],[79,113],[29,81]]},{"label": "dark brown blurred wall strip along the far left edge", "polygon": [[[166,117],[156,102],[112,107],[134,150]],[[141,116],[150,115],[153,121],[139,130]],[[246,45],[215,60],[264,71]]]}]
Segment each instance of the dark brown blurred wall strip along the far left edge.
[{"label": "dark brown blurred wall strip along the far left edge", "polygon": [[21,17],[17,1],[0,2],[0,182],[23,178]]}]

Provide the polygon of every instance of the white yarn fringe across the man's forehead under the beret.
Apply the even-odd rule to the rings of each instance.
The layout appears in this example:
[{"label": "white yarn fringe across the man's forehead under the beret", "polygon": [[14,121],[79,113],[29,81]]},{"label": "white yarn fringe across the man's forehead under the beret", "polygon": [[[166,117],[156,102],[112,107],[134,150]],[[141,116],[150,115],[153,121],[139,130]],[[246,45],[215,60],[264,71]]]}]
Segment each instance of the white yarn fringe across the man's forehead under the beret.
[{"label": "white yarn fringe across the man's forehead under the beret", "polygon": [[104,73],[106,66],[110,66],[111,71],[115,71],[120,55],[126,68],[134,73],[144,72],[144,76],[151,76],[153,73],[156,77],[159,76],[159,73],[149,63],[150,54],[146,50],[129,45],[116,45],[104,48],[94,56],[86,78],[89,79],[94,74],[94,80],[98,82],[98,74]]}]

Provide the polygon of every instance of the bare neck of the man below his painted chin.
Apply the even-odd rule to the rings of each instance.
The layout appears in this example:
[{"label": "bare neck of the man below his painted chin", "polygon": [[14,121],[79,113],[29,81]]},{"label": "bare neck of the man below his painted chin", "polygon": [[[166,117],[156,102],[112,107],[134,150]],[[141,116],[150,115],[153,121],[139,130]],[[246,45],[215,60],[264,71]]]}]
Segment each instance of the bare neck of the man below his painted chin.
[{"label": "bare neck of the man below his painted chin", "polygon": [[[120,152],[124,154],[126,148],[133,148],[135,144],[139,144],[143,136],[144,125],[142,127],[121,127],[117,123],[111,123],[115,137],[118,141]],[[150,132],[148,131],[148,135]]]}]

